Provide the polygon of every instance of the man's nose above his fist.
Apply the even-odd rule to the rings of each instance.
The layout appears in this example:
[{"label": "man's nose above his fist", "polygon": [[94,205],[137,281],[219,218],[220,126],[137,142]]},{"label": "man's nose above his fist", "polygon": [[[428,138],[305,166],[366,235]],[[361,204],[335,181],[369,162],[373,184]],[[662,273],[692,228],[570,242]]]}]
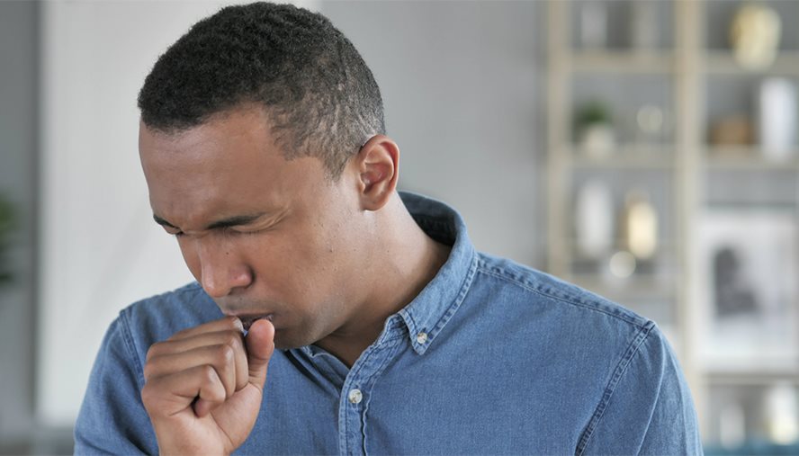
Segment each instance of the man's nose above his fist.
[{"label": "man's nose above his fist", "polygon": [[247,288],[253,274],[232,246],[219,239],[198,239],[200,283],[211,298],[222,298]]}]

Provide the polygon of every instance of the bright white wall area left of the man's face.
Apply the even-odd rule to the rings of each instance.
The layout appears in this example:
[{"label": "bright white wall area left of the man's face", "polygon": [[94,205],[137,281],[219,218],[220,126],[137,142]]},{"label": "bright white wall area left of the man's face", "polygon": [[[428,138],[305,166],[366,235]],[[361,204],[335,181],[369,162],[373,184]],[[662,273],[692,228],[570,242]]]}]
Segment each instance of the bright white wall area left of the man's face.
[{"label": "bright white wall area left of the man's face", "polygon": [[158,55],[221,4],[42,4],[37,411],[45,425],[72,425],[121,308],[192,280],[151,218],[136,97]]}]

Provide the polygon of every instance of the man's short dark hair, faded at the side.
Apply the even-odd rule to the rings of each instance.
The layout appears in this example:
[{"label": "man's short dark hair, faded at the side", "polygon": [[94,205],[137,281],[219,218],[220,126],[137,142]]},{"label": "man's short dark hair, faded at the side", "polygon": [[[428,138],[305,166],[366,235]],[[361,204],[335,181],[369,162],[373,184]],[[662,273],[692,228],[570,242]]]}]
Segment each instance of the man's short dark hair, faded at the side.
[{"label": "man's short dark hair, faded at the side", "polygon": [[291,4],[228,6],[157,59],[139,92],[141,120],[176,133],[258,103],[286,159],[317,156],[337,180],[366,139],[385,133],[380,88],[325,16]]}]

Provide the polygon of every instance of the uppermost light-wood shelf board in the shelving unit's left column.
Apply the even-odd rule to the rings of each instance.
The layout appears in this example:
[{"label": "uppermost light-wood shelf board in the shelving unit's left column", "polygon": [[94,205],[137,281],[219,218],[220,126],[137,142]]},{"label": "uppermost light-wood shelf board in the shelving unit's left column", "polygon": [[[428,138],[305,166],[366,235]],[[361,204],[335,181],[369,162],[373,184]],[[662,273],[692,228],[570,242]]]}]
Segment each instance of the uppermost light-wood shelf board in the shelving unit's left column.
[{"label": "uppermost light-wood shelf board in the shelving unit's left column", "polygon": [[669,75],[675,71],[674,56],[669,51],[575,50],[570,62],[579,73]]}]

